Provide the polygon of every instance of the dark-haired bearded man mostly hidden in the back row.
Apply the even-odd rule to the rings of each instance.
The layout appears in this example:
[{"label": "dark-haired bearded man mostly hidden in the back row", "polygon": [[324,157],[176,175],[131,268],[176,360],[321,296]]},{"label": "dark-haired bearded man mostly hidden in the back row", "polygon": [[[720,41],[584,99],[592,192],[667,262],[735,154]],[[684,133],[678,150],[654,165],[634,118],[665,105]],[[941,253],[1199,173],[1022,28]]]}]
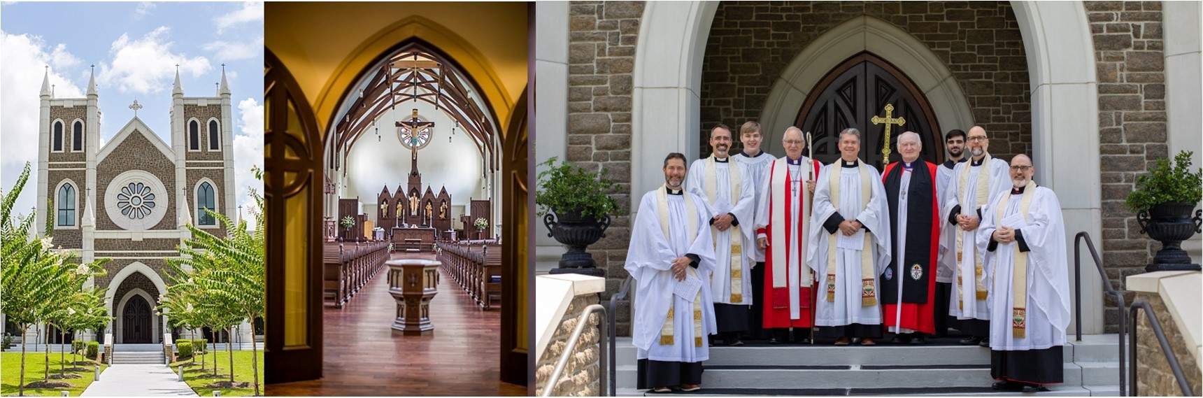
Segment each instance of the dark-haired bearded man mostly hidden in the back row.
[{"label": "dark-haired bearded man mostly hidden in the back row", "polygon": [[[948,195],[948,184],[953,179],[953,168],[958,164],[967,160],[965,158],[965,131],[961,130],[948,130],[944,135],[944,150],[948,154],[947,160],[936,168],[936,195],[940,196],[941,203],[946,200]],[[948,299],[953,292],[953,267],[956,266],[956,254],[947,250],[946,248],[954,248],[956,245],[956,225],[948,222],[940,222],[940,255],[936,260],[940,263],[936,267],[936,333],[935,337],[948,335],[949,316],[948,316]]]}]

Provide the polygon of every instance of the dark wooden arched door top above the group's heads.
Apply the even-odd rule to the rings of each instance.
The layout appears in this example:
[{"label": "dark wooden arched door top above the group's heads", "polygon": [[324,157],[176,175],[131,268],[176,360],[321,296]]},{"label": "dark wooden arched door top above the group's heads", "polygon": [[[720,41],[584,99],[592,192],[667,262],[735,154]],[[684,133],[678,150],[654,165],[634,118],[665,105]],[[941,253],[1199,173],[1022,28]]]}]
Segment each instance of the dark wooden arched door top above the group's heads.
[{"label": "dark wooden arched door top above the group's heads", "polygon": [[899,160],[895,137],[903,131],[919,133],[923,159],[940,164],[940,123],[928,97],[914,82],[894,65],[870,52],[853,55],[832,69],[814,85],[798,112],[794,125],[813,135],[814,158],[830,164],[840,158],[841,130],[861,131],[860,159],[882,168],[885,144],[885,124],[873,124],[875,117],[885,117],[887,105],[893,106],[891,118],[903,118],[905,125],[890,127],[890,161]]}]

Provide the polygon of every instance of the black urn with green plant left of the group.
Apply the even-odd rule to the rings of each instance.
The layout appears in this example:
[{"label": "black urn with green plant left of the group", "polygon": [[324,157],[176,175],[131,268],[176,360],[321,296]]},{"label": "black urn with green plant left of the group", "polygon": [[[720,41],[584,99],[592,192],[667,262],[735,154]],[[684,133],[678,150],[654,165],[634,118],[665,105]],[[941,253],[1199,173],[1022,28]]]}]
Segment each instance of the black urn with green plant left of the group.
[{"label": "black urn with green plant left of the group", "polygon": [[597,268],[593,255],[585,249],[605,237],[610,214],[618,208],[618,201],[608,195],[614,191],[614,182],[602,178],[600,172],[591,172],[556,158],[539,166],[546,170],[538,177],[539,190],[534,197],[539,207],[537,214],[543,218],[547,236],[568,248],[559,257],[559,267],[551,273],[604,275],[605,271]]}]

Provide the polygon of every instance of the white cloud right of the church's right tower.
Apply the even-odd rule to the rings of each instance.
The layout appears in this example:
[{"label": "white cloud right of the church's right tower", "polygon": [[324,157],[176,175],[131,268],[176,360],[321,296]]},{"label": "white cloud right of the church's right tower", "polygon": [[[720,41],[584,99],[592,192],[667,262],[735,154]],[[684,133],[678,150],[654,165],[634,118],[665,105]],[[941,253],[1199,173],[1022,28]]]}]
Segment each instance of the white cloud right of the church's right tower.
[{"label": "white cloud right of the church's right tower", "polygon": [[235,195],[245,216],[247,209],[254,207],[250,190],[263,194],[263,182],[256,180],[250,172],[251,166],[263,168],[263,106],[248,97],[238,102],[238,131],[233,136]]}]

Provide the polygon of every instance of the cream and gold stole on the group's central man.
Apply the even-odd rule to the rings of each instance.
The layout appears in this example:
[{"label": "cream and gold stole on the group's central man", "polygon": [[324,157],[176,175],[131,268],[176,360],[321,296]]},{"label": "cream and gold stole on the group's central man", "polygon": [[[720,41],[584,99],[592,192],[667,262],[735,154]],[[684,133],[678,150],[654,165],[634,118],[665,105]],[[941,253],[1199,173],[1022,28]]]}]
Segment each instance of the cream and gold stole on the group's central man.
[{"label": "cream and gold stole on the group's central man", "polygon": [[[840,178],[843,172],[840,170],[842,166],[842,160],[836,160],[834,165],[834,171],[828,173],[829,183],[831,185],[831,204],[836,209],[840,208]],[[872,195],[872,188],[870,183],[869,166],[865,165],[860,159],[857,160],[860,165],[858,171],[860,172],[860,208],[864,210],[869,206],[869,198]],[[826,272],[826,299],[829,302],[835,302],[835,280],[836,269],[836,236],[835,233],[828,234],[828,272]],[[877,287],[873,286],[873,237],[872,232],[865,231],[865,245],[860,250],[860,305],[870,307],[877,305]]]}]

